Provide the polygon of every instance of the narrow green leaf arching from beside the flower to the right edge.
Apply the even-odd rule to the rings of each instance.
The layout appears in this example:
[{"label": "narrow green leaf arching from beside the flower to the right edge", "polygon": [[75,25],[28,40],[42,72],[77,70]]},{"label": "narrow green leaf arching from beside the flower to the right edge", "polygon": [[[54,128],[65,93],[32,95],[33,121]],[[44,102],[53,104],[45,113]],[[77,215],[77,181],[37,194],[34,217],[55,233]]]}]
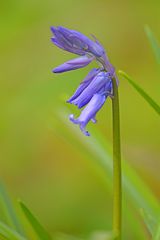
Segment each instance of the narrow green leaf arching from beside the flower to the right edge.
[{"label": "narrow green leaf arching from beside the flower to the right edge", "polygon": [[128,76],[125,72],[119,71],[119,74],[124,77],[134,89],[147,101],[147,103],[160,115],[160,106],[151,98],[137,83],[135,83],[130,76]]}]

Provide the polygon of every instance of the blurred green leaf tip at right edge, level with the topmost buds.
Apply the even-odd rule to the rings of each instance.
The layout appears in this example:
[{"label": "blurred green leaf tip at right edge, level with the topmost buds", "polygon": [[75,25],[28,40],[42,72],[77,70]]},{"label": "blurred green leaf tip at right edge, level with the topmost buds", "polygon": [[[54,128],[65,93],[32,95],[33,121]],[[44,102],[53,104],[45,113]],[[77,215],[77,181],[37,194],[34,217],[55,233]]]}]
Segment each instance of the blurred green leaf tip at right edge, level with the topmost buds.
[{"label": "blurred green leaf tip at right edge, level with the topmost buds", "polygon": [[148,25],[145,26],[145,32],[151,44],[157,62],[160,64],[160,45]]}]

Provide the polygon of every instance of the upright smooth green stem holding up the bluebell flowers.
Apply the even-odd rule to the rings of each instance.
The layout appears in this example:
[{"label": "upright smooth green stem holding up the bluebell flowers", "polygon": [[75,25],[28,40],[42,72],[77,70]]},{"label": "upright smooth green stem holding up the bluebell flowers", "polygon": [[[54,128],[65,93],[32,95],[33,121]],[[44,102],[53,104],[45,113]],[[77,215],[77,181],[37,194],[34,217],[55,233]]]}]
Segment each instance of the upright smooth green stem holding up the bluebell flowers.
[{"label": "upright smooth green stem holding up the bluebell flowers", "polygon": [[120,118],[119,118],[119,97],[116,79],[112,79],[113,99],[113,232],[116,240],[121,239],[121,145],[120,145]]}]

